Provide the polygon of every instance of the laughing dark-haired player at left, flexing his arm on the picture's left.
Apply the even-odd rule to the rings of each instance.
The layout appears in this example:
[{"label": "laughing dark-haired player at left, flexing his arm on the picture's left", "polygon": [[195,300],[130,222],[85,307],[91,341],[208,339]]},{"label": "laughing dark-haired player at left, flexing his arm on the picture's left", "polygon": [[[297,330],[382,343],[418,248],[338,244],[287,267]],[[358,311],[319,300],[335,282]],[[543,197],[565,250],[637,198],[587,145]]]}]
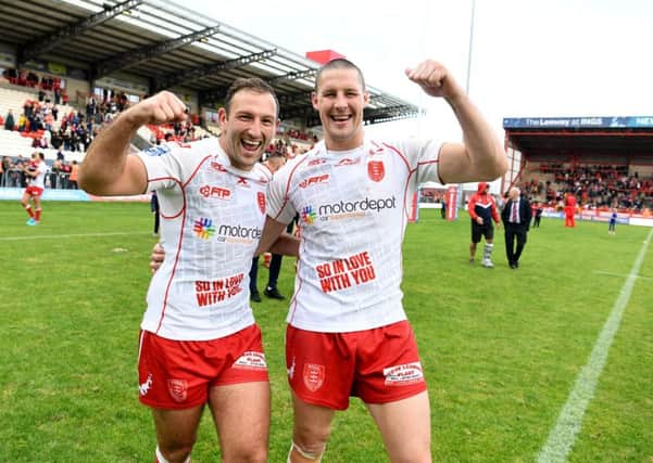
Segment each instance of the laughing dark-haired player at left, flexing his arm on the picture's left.
[{"label": "laughing dark-haired player at left, flexing his arm on the picture's left", "polygon": [[[92,142],[79,184],[99,195],[155,190],[165,261],[141,323],[140,401],[151,407],[156,462],[187,462],[205,406],[225,462],[266,462],[269,384],[249,304],[249,270],[271,173],[258,162],[278,126],[274,90],[238,79],[218,111],[219,138],[127,155],[139,127],[186,119],[167,91],[126,110]],[[297,255],[297,241],[275,252]]]}]

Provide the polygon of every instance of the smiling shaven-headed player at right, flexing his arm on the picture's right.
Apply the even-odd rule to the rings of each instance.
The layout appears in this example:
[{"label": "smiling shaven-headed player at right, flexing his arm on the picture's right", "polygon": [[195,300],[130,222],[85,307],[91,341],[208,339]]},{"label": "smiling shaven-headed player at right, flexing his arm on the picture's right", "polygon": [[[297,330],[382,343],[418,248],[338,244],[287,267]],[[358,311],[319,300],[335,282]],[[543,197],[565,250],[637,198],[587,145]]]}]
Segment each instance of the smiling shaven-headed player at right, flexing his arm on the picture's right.
[{"label": "smiling shaven-headed player at right, flexing his arm on the picture's right", "polygon": [[407,78],[453,110],[464,143],[366,138],[369,101],[347,60],[321,68],[312,97],[324,141],[289,160],[268,188],[261,247],[300,216],[300,260],[286,334],[294,427],[288,461],[318,462],[336,410],[360,397],[392,462],[429,462],[430,409],[413,330],[402,306],[402,241],[407,204],[426,181],[493,180],[502,145],[440,63]]}]

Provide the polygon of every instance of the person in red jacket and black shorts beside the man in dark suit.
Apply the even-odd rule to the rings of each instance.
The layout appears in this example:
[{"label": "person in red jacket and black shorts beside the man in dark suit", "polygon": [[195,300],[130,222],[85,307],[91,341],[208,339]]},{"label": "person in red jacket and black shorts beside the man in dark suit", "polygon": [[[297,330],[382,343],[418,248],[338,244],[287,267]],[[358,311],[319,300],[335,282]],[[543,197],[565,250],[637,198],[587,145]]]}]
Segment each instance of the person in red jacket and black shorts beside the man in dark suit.
[{"label": "person in red jacket and black shorts beside the man in dark suit", "polygon": [[492,248],[494,247],[494,226],[492,220],[497,223],[497,228],[501,227],[501,219],[499,218],[499,211],[497,210],[497,202],[492,197],[490,192],[490,185],[486,182],[478,183],[477,193],[472,196],[469,204],[467,205],[467,211],[472,218],[472,243],[469,243],[469,263],[474,263],[476,256],[476,245],[480,242],[480,237],[485,236],[486,244],[482,253],[482,266],[492,268],[494,265],[490,257],[492,256]]}]

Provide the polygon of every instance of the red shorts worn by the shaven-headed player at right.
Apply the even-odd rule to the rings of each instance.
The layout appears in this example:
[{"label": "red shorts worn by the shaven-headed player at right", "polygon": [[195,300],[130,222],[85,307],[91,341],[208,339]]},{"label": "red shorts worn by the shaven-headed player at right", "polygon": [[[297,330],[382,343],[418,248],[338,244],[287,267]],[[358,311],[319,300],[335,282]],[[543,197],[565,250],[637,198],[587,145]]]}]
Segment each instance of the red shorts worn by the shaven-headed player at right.
[{"label": "red shorts worn by the shaven-headed player at right", "polygon": [[306,403],[346,410],[349,397],[387,403],[426,390],[411,324],[318,333],[286,329],[286,366],[294,394]]}]

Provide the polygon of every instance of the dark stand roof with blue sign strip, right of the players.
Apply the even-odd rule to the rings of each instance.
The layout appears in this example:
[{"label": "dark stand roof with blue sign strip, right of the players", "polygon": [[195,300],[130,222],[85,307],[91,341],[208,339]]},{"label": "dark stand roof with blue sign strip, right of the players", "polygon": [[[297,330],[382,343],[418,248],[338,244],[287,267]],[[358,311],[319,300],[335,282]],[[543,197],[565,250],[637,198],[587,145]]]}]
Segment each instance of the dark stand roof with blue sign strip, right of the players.
[{"label": "dark stand roof with blue sign strip, right of the players", "polygon": [[527,158],[653,160],[653,117],[504,118],[508,145]]}]

